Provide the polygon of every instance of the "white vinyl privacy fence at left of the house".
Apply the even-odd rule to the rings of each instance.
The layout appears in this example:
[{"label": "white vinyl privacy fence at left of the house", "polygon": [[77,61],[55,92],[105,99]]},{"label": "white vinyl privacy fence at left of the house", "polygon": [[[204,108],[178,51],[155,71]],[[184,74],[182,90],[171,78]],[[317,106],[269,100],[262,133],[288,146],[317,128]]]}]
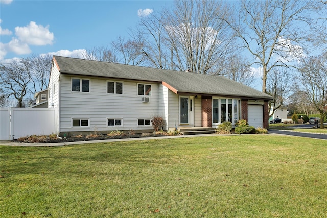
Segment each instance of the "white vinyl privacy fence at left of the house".
[{"label": "white vinyl privacy fence at left of the house", "polygon": [[55,108],[0,108],[0,140],[56,133]]}]

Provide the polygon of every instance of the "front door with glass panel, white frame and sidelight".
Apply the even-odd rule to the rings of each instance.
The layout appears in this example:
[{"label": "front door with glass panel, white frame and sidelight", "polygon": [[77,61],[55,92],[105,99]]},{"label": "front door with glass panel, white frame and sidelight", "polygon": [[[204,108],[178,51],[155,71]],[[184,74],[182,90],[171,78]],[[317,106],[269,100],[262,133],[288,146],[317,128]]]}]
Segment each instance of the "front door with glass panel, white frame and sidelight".
[{"label": "front door with glass panel, white frame and sidelight", "polygon": [[180,97],[180,124],[194,125],[194,97]]}]

